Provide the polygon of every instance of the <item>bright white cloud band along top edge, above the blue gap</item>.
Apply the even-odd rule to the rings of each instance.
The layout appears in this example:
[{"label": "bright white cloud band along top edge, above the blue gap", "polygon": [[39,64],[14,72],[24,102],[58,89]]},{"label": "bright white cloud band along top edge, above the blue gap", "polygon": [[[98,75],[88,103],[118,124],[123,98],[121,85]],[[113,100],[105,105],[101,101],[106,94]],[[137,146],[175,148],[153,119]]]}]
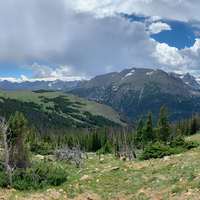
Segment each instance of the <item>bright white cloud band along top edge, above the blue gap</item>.
[{"label": "bright white cloud band along top edge, above the blue gap", "polygon": [[94,13],[100,18],[116,13],[134,13],[179,21],[200,20],[199,0],[65,0],[65,5],[77,12]]}]

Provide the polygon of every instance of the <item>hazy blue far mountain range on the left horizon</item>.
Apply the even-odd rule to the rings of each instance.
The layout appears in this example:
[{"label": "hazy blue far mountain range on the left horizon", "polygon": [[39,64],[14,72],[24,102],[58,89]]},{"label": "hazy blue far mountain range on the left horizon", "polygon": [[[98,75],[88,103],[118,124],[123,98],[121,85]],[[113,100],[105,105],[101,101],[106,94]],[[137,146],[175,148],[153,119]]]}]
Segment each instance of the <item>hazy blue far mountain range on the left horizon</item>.
[{"label": "hazy blue far mountain range on the left horizon", "polygon": [[9,81],[2,81],[0,82],[0,89],[6,91],[15,91],[15,90],[53,90],[53,91],[61,91],[67,92],[69,90],[75,89],[81,86],[86,81],[24,81],[21,83],[17,82],[9,82]]}]

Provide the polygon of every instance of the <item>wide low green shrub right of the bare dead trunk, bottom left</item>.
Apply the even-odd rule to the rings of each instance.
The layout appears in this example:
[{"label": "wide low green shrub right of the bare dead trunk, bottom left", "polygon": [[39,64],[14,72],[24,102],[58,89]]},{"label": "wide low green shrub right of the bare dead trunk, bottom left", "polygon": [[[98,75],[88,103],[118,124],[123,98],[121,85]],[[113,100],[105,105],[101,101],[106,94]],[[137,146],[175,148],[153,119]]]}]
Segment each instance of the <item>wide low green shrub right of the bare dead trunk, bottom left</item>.
[{"label": "wide low green shrub right of the bare dead trunk, bottom left", "polygon": [[17,190],[39,189],[46,185],[58,186],[67,180],[67,171],[54,163],[34,163],[31,168],[16,171],[12,187]]}]

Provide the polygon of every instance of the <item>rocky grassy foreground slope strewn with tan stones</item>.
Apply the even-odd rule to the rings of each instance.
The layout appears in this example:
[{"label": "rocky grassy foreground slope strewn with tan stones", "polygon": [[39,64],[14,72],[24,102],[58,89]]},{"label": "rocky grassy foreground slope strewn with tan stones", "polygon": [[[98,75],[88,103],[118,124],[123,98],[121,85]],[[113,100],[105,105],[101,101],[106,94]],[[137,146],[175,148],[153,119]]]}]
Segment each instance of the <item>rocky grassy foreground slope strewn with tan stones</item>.
[{"label": "rocky grassy foreground slope strewn with tan stones", "polygon": [[[200,141],[200,133],[188,140]],[[84,156],[82,171],[66,162],[60,162],[70,175],[59,187],[20,192],[0,188],[5,199],[199,199],[200,148],[178,155],[146,161],[120,161],[114,155],[89,153]],[[52,159],[54,159],[52,157]],[[40,161],[43,162],[43,161]],[[115,169],[115,170],[114,170]],[[78,173],[79,172],[79,173]],[[84,175],[90,179],[81,180]]]}]

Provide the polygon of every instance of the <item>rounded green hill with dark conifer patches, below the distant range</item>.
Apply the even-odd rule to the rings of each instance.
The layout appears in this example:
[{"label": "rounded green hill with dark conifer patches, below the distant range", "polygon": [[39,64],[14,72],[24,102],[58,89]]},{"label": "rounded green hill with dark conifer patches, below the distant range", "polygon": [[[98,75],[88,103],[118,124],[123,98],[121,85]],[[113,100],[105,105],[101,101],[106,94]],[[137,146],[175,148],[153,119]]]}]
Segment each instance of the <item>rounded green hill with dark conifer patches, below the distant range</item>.
[{"label": "rounded green hill with dark conifer patches, below the distant range", "polygon": [[0,90],[0,115],[8,119],[16,111],[23,113],[29,125],[48,129],[133,125],[123,113],[77,95],[44,90]]}]

